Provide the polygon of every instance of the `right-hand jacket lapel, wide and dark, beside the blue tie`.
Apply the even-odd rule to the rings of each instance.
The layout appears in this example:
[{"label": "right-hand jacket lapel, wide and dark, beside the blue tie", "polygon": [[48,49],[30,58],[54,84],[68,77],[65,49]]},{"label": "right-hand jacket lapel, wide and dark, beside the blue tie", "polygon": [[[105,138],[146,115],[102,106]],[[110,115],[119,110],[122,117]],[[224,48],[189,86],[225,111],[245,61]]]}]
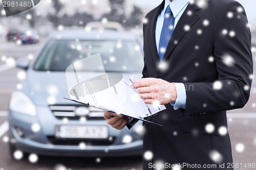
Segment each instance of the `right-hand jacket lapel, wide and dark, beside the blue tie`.
[{"label": "right-hand jacket lapel, wide and dark, beside the blue tie", "polygon": [[[193,27],[193,25],[199,20],[200,16],[196,13],[196,11],[199,9],[201,8],[199,8],[197,5],[188,4],[186,10],[182,14],[181,18],[177,23],[177,26],[174,29],[172,37],[170,38],[170,41],[166,48],[163,60],[166,60],[170,56],[174,48],[179,44],[179,41],[189,31],[186,29]],[[191,11],[192,14],[187,15],[188,11]]]}]

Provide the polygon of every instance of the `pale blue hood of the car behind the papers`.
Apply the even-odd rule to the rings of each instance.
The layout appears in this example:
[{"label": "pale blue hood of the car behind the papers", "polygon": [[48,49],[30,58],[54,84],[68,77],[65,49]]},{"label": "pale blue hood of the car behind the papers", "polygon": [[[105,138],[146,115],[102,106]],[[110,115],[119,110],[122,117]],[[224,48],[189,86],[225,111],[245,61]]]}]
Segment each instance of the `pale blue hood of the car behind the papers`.
[{"label": "pale blue hood of the car behind the papers", "polygon": [[[140,79],[141,73],[122,73],[124,78]],[[84,76],[98,76],[96,72],[86,72]],[[70,98],[65,72],[29,70],[23,82],[23,91],[35,105],[74,104],[63,98]]]}]

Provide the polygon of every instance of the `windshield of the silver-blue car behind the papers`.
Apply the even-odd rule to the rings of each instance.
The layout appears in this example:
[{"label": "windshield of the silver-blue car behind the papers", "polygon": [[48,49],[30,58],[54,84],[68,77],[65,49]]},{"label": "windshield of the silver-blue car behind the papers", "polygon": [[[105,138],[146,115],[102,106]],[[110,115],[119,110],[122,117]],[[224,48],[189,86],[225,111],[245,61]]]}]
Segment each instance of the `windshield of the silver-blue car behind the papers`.
[{"label": "windshield of the silver-blue car behind the papers", "polygon": [[[106,72],[141,72],[143,52],[136,40],[51,40],[34,64],[34,70],[66,71],[73,62],[100,53]],[[98,67],[80,71],[102,71]]]}]

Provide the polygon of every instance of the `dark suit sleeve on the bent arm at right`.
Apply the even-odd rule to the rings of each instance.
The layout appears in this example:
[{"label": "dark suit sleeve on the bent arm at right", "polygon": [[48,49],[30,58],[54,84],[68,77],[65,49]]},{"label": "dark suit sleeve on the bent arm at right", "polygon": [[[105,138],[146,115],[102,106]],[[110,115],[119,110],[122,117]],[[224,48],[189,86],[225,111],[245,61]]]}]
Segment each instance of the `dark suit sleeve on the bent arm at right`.
[{"label": "dark suit sleeve on the bent arm at right", "polygon": [[[242,108],[249,99],[253,73],[251,34],[243,7],[236,1],[220,15],[214,33],[214,58],[218,81],[184,83],[185,115]],[[242,12],[241,12],[242,11]],[[232,12],[233,17],[227,17]],[[240,17],[240,18],[238,18]],[[227,30],[228,33],[224,34]]]}]

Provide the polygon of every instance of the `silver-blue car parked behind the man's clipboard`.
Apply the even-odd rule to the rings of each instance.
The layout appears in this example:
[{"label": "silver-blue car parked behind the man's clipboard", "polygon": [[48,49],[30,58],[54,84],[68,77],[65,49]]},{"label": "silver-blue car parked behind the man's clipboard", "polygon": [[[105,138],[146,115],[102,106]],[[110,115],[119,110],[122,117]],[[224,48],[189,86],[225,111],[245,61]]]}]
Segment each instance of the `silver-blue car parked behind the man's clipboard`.
[{"label": "silver-blue car parked behind the man's clipboard", "polygon": [[[141,39],[116,31],[55,33],[32,63],[17,62],[17,66],[27,72],[13,91],[9,104],[12,155],[16,151],[100,157],[142,153],[142,123],[131,130],[118,131],[106,124],[101,110],[63,99],[69,98],[66,68],[74,61],[97,53],[101,54],[106,72],[120,72],[124,78],[142,77]],[[86,74],[97,71],[95,68]],[[81,116],[83,113],[89,114]],[[79,138],[77,133],[84,133],[85,137]]]}]

